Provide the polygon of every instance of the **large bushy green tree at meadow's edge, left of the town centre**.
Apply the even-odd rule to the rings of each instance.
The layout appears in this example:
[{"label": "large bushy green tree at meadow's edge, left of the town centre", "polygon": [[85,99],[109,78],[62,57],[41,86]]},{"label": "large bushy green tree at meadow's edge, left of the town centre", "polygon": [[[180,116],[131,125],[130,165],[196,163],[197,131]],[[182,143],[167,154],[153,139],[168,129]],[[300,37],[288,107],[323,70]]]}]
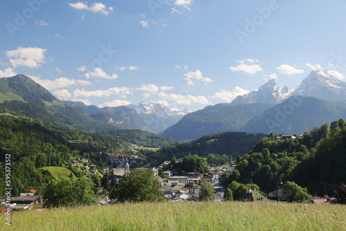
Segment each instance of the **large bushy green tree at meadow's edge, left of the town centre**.
[{"label": "large bushy green tree at meadow's edge, left of the town centre", "polygon": [[154,178],[154,172],[140,169],[131,169],[129,174],[122,176],[118,189],[113,188],[110,198],[120,202],[161,201],[164,199],[161,185]]}]

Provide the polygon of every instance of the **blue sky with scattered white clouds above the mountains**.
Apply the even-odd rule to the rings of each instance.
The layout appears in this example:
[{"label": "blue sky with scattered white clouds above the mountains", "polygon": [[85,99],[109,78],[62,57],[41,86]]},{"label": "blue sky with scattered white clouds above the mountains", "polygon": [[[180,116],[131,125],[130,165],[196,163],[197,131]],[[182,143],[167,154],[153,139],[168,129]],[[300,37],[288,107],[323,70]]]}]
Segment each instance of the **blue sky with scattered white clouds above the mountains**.
[{"label": "blue sky with scattered white clouds above the mountains", "polygon": [[312,69],[345,81],[346,1],[0,1],[0,77],[62,100],[195,111]]}]

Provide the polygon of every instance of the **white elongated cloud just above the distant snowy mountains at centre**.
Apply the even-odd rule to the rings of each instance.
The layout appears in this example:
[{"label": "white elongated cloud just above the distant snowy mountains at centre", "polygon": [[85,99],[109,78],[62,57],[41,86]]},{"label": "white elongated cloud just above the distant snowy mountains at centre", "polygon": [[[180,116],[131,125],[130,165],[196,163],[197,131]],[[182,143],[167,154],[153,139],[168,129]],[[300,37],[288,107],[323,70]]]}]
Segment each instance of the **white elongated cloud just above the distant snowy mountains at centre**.
[{"label": "white elongated cloud just above the distant snowy mountains at centre", "polygon": [[207,100],[207,98],[203,95],[200,96],[194,96],[194,95],[178,95],[178,94],[166,94],[163,92],[159,92],[158,96],[163,98],[163,100],[172,100],[176,104],[185,104],[185,105],[191,105],[191,104],[211,104]]}]

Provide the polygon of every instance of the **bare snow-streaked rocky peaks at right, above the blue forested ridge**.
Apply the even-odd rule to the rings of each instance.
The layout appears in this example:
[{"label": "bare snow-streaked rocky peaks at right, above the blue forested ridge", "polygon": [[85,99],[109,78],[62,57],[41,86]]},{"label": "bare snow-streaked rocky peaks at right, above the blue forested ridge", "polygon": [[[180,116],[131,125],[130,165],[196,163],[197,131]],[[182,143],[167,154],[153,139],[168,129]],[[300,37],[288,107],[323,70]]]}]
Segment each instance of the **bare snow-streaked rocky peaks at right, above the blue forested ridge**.
[{"label": "bare snow-streaked rocky peaks at right, above the blue forested ridge", "polygon": [[298,86],[293,89],[284,86],[280,88],[275,80],[269,80],[256,91],[246,95],[239,95],[231,104],[251,104],[266,102],[277,104],[294,95],[311,96],[322,100],[346,100],[346,82],[322,70],[311,71]]}]

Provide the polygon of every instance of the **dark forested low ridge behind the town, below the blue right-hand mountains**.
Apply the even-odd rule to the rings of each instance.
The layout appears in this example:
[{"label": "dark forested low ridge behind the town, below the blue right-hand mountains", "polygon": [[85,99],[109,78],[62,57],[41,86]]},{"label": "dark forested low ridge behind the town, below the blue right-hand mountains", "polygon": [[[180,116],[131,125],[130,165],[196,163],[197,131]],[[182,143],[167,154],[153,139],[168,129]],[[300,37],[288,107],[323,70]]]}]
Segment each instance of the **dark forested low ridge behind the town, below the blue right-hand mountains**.
[{"label": "dark forested low ridge behind the town, below the blue right-hand mountains", "polygon": [[149,163],[157,166],[165,160],[171,160],[174,156],[176,158],[183,158],[190,156],[190,154],[198,156],[208,156],[208,154],[226,155],[237,158],[238,155],[251,151],[255,143],[264,138],[266,135],[262,133],[251,134],[243,132],[219,132],[207,136],[203,136],[192,142],[185,142],[182,144],[165,146],[158,151],[142,151]]}]

